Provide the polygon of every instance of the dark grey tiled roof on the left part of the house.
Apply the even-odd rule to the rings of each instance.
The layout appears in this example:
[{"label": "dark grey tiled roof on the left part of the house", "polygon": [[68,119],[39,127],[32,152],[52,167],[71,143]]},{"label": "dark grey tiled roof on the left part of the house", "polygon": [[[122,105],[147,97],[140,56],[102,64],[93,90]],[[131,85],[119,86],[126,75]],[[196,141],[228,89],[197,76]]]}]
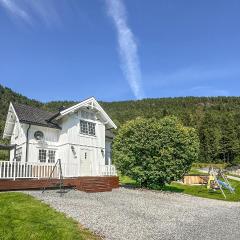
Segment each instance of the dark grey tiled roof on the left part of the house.
[{"label": "dark grey tiled roof on the left part of the house", "polygon": [[19,103],[13,103],[13,107],[20,122],[61,129],[56,121],[49,121],[56,113]]}]

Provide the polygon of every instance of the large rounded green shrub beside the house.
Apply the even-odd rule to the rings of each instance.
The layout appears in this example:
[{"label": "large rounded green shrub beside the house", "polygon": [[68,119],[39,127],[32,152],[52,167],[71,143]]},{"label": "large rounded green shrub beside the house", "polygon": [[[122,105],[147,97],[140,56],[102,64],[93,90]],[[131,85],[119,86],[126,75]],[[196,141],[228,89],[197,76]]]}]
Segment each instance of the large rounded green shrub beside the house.
[{"label": "large rounded green shrub beside the house", "polygon": [[113,143],[117,169],[147,187],[180,179],[197,160],[198,153],[195,130],[184,127],[176,117],[129,121]]}]

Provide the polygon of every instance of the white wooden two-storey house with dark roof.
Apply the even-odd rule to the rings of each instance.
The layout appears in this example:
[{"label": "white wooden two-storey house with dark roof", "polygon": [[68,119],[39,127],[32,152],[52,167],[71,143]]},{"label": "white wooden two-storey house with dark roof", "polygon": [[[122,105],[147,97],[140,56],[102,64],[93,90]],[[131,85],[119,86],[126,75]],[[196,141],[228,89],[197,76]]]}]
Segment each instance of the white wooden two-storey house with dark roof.
[{"label": "white wooden two-storey house with dark roof", "polygon": [[42,171],[38,167],[54,166],[61,159],[64,177],[116,175],[111,162],[113,129],[116,125],[93,97],[57,113],[10,103],[3,138],[16,147],[9,163],[0,164],[24,164],[31,171],[25,167],[25,173],[16,169],[2,174],[46,177],[49,172],[36,173]]}]

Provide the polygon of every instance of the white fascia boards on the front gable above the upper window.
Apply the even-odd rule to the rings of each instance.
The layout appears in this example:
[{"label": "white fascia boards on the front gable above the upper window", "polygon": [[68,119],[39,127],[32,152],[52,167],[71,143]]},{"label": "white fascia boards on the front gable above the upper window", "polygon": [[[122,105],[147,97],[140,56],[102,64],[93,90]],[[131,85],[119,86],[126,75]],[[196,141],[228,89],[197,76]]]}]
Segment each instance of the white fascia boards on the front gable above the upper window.
[{"label": "white fascia boards on the front gable above the upper window", "polygon": [[63,111],[60,112],[60,115],[56,118],[56,119],[60,119],[62,117],[64,117],[65,115],[71,113],[71,112],[74,112],[76,110],[78,110],[79,108],[81,107],[84,107],[84,106],[88,106],[87,104],[88,103],[92,103],[92,105],[90,107],[94,107],[93,106],[93,103],[96,105],[96,109],[104,116],[104,118],[106,119],[106,123],[105,124],[109,124],[111,125],[111,127],[113,128],[117,128],[117,126],[115,125],[115,123],[111,120],[111,118],[107,115],[107,113],[103,110],[103,108],[100,106],[100,104],[97,102],[97,100],[94,98],[94,97],[91,97],[91,98],[88,98],[70,108],[67,108]]}]

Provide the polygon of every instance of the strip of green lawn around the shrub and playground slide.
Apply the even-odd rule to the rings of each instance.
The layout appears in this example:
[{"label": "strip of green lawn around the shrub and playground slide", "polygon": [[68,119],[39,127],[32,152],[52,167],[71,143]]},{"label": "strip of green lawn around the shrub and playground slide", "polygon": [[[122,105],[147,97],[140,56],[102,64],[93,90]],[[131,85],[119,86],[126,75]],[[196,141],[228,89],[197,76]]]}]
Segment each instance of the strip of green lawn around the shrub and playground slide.
[{"label": "strip of green lawn around the shrub and playground slide", "polygon": [[[123,185],[139,187],[137,183],[129,177],[120,176],[120,182]],[[185,185],[177,182],[173,182],[170,185],[166,185],[163,191],[170,191],[170,192],[179,192],[185,193],[197,197],[204,197],[204,198],[212,198],[218,200],[226,200],[226,201],[240,201],[240,182],[229,180],[232,187],[235,188],[235,194],[231,194],[228,190],[224,190],[227,199],[225,199],[220,190],[217,191],[209,191],[205,185]],[[156,187],[155,190],[158,190]],[[160,190],[160,189],[159,189]]]}]

